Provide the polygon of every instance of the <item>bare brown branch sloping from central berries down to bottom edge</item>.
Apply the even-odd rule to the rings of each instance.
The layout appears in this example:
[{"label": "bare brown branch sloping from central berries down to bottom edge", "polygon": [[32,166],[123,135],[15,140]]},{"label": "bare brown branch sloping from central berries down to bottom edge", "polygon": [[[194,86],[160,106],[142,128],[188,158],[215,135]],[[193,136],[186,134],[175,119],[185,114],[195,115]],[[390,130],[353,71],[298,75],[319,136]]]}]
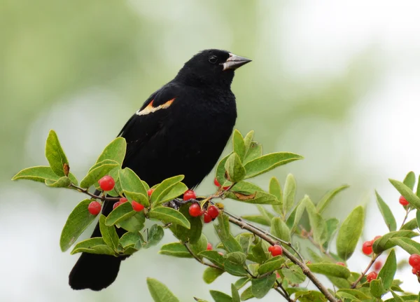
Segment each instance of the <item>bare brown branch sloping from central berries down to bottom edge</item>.
[{"label": "bare brown branch sloping from central berries down to bottom edge", "polygon": [[[267,241],[270,245],[276,245],[279,242],[279,240],[274,240],[273,238],[271,238],[271,236],[265,234],[265,232],[263,232],[263,231],[258,230],[258,228],[253,226],[252,224],[248,224],[248,223],[246,223],[242,220],[234,218],[229,214],[228,214],[228,217],[229,217],[229,221],[232,224],[235,224],[235,225],[239,226],[240,228],[244,228],[245,230],[250,231],[251,233],[257,235],[262,240]],[[323,286],[323,284],[315,277],[315,275],[311,272],[311,270],[309,270],[309,268],[306,266],[304,261],[299,261],[299,259],[297,259],[287,249],[283,249],[283,254],[288,259],[290,259],[290,261],[292,261],[297,266],[300,266],[300,268],[302,268],[302,271],[303,271],[304,275],[307,275],[307,277],[312,281],[312,283],[315,284],[315,286],[319,289],[319,291],[321,291],[321,293],[325,296],[325,298],[328,299],[328,301],[337,302],[337,299],[334,298],[334,296],[332,296],[330,291],[328,291],[328,289],[326,289]]]}]

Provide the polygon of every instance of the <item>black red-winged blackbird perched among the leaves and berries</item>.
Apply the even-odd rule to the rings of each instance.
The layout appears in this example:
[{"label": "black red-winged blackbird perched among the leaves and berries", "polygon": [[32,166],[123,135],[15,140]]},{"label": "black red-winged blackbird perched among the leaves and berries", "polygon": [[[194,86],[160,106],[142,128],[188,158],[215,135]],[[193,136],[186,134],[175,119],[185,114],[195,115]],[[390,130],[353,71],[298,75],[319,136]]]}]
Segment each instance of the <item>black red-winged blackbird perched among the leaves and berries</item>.
[{"label": "black red-winged blackbird perched among the leaves and berries", "polygon": [[[225,50],[203,50],[191,58],[176,77],[153,92],[130,118],[119,136],[127,140],[123,167],[130,167],[153,186],[183,174],[194,188],[218,158],[237,118],[235,95],[230,90],[235,69],[251,62]],[[108,215],[113,203],[104,203]],[[125,231],[117,228],[119,236]],[[92,237],[100,237],[99,225]],[[69,275],[73,289],[99,291],[118,275],[121,260],[82,253]]]}]

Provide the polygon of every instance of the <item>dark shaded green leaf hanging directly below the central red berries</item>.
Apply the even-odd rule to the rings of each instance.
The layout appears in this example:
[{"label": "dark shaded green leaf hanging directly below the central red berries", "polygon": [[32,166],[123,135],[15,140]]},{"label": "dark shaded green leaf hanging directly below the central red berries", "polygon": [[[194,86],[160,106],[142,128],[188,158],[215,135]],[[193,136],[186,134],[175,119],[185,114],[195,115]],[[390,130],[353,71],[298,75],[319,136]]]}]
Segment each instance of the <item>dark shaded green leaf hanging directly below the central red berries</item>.
[{"label": "dark shaded green leaf hanging directly below the central red berries", "polygon": [[200,240],[202,234],[203,222],[201,217],[192,217],[188,212],[190,204],[181,205],[179,212],[183,214],[188,221],[190,221],[190,229],[184,228],[179,224],[173,224],[171,226],[171,231],[174,233],[175,237],[181,240],[181,242],[190,242],[195,243]]}]

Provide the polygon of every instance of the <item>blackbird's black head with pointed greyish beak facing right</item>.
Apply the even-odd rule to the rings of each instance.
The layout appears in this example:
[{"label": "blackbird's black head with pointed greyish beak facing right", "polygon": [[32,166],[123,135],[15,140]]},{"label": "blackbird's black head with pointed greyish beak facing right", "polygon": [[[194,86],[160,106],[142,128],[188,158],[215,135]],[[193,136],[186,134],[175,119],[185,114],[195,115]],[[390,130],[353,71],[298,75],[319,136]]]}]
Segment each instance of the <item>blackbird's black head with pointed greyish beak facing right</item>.
[{"label": "blackbird's black head with pointed greyish beak facing right", "polygon": [[190,85],[230,86],[235,69],[251,62],[226,50],[202,50],[179,71],[176,78]]}]

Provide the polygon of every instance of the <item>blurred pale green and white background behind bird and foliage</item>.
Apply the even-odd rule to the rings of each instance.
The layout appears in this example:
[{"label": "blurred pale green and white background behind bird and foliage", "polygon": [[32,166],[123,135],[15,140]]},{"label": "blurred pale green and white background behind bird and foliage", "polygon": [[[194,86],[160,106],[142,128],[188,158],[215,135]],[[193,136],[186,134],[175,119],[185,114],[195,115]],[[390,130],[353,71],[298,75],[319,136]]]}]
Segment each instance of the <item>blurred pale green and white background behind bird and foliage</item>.
[{"label": "blurred pale green and white background behind bird and foliage", "polygon": [[[305,157],[255,182],[267,187],[274,175],[283,183],[291,172],[298,198],[314,201],[350,184],[327,215],[343,219],[363,204],[363,236],[385,233],[370,203],[373,188],[401,221],[387,179],[420,171],[419,8],[416,1],[1,0],[0,300],[151,301],[146,277],[165,282],[181,301],[209,298],[209,289],[230,291],[234,278],[204,284],[200,264],[161,256],[158,247],[124,261],[109,289],[72,291],[67,276],[78,256],[60,252],[58,242],[82,196],[10,181],[24,167],[45,165],[49,129],[83,177],[148,95],[206,48],[253,60],[232,85],[242,134],[255,130],[266,153]],[[198,193],[214,190],[213,177]],[[226,206],[256,212],[232,201]],[[206,233],[216,243],[212,226]],[[172,240],[168,233],[165,242]],[[349,264],[361,270],[367,261],[356,254]],[[406,288],[418,290],[409,276]],[[275,294],[265,298],[274,300]]]}]

